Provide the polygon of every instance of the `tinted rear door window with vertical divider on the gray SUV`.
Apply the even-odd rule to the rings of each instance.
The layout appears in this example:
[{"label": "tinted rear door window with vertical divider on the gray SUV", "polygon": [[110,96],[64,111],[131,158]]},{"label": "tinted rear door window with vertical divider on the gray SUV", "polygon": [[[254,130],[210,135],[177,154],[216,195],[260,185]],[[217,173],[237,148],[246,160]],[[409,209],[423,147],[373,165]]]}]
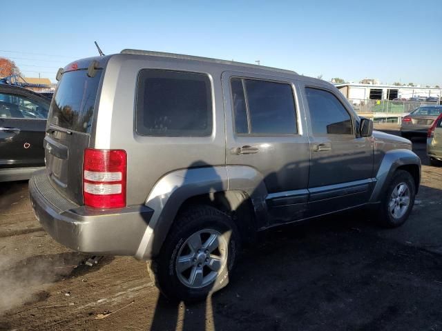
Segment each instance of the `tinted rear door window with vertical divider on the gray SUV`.
[{"label": "tinted rear door window with vertical divider on the gray SUV", "polygon": [[231,80],[231,90],[236,133],[298,133],[289,84],[235,78]]}]

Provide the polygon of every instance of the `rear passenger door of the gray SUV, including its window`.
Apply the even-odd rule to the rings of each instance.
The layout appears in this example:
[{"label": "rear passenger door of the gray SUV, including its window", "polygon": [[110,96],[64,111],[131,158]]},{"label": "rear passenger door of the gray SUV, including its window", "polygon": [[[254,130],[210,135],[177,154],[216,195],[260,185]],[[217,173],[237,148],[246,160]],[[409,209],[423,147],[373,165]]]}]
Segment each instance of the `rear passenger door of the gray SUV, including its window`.
[{"label": "rear passenger door of the gray SUV, including its window", "polygon": [[227,165],[251,167],[262,175],[269,225],[302,218],[310,151],[295,84],[279,77],[224,72],[222,86]]}]

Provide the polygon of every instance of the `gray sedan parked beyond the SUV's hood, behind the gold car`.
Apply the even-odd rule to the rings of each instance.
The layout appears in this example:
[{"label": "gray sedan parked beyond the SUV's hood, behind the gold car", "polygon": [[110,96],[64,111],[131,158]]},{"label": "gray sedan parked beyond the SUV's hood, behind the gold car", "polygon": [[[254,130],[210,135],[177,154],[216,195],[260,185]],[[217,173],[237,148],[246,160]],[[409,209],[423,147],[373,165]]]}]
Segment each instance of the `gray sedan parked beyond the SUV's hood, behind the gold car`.
[{"label": "gray sedan parked beyond the SUV's hood, behind the gold car", "polygon": [[405,138],[425,136],[441,112],[442,106],[438,105],[416,108],[402,119],[401,136]]}]

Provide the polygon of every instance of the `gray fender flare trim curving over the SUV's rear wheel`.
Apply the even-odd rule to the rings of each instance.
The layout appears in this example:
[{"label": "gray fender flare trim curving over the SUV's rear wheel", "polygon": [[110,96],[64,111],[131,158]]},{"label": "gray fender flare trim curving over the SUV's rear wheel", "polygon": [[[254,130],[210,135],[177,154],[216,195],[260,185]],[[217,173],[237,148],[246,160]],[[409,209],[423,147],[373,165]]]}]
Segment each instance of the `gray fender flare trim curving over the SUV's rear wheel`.
[{"label": "gray fender flare trim curving over the SUV's rear wheel", "polygon": [[142,236],[135,258],[148,260],[160,252],[178,210],[182,203],[191,197],[242,190],[251,197],[255,210],[260,215],[265,215],[267,210],[263,210],[262,201],[265,205],[267,189],[262,179],[262,174],[257,170],[240,165],[209,166],[169,172],[155,183],[144,203],[154,212]]}]

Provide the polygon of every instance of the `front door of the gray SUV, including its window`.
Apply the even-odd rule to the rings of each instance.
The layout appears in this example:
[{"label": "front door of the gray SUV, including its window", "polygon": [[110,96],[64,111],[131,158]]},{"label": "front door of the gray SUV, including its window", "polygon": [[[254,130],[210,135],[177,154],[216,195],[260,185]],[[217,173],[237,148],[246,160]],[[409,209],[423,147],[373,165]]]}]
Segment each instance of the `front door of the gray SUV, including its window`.
[{"label": "front door of the gray SUV, including its window", "polygon": [[357,115],[336,91],[302,88],[311,141],[310,217],[365,203],[374,183],[374,140],[360,136]]}]

